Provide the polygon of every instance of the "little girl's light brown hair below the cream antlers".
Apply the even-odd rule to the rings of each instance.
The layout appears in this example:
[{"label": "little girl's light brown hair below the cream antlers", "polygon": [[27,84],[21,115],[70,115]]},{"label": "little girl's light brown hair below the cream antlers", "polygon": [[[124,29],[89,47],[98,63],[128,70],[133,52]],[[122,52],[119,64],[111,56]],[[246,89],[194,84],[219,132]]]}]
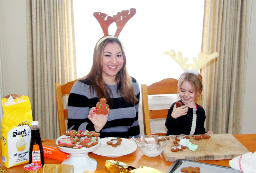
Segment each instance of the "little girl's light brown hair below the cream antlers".
[{"label": "little girl's light brown hair below the cream antlers", "polygon": [[[200,77],[201,77],[201,75],[200,75]],[[199,78],[199,76],[196,76],[192,73],[182,73],[178,80],[178,85],[177,85],[178,91],[180,91],[181,85],[185,81],[188,81],[190,83],[190,85],[192,85],[192,87],[194,89],[195,100],[197,100],[198,96],[200,96],[200,98],[202,98],[203,85],[202,85],[202,81]]]}]

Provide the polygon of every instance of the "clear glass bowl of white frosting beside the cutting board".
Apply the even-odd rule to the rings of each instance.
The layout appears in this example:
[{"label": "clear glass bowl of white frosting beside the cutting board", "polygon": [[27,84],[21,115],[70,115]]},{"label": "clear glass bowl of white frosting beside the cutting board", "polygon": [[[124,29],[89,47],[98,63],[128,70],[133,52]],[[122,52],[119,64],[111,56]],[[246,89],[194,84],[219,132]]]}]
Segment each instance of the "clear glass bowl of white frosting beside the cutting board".
[{"label": "clear glass bowl of white frosting beside the cutting board", "polygon": [[139,149],[145,156],[156,157],[163,152],[163,147],[168,140],[165,137],[158,135],[144,135],[137,138],[136,141]]}]

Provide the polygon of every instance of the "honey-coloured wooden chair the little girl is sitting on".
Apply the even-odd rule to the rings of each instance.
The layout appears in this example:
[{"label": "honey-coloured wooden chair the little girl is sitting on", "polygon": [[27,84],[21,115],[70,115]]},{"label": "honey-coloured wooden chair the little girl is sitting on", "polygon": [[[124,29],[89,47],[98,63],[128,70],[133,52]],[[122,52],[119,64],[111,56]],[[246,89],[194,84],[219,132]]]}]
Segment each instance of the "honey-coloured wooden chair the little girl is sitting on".
[{"label": "honey-coloured wooden chair the little girl is sitting on", "polygon": [[[149,110],[148,108],[148,95],[155,94],[176,94],[177,93],[177,79],[163,79],[159,82],[153,83],[147,86],[146,84],[141,85],[142,90],[142,113],[144,120],[144,132],[145,135],[151,134],[150,119],[166,118],[169,109],[161,110]],[[155,135],[166,135],[164,133],[154,133]]]}]

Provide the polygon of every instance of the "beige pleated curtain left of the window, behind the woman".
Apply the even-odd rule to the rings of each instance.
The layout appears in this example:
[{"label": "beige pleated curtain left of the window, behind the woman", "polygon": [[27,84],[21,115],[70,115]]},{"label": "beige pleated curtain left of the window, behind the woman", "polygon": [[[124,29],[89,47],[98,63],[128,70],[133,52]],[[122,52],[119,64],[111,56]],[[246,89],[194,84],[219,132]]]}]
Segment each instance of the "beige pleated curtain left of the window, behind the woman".
[{"label": "beige pleated curtain left of the window, behind the woman", "polygon": [[76,79],[72,0],[27,0],[28,94],[43,139],[57,138],[55,83]]}]

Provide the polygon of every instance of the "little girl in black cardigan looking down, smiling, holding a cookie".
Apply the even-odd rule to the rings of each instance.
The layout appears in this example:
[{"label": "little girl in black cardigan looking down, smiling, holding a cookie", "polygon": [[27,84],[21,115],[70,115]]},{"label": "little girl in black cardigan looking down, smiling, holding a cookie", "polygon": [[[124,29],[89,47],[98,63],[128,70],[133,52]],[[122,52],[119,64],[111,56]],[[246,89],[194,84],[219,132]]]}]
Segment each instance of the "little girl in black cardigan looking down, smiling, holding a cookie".
[{"label": "little girl in black cardigan looking down, smiling, holding a cookie", "polygon": [[[168,111],[165,126],[170,134],[203,134],[206,133],[204,128],[205,112],[204,109],[195,103],[198,97],[201,97],[203,86],[201,79],[192,73],[183,73],[178,80],[179,102],[183,106],[176,107],[172,104]],[[208,131],[208,134],[213,134]]]}]

